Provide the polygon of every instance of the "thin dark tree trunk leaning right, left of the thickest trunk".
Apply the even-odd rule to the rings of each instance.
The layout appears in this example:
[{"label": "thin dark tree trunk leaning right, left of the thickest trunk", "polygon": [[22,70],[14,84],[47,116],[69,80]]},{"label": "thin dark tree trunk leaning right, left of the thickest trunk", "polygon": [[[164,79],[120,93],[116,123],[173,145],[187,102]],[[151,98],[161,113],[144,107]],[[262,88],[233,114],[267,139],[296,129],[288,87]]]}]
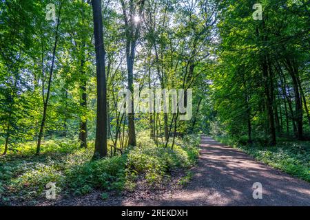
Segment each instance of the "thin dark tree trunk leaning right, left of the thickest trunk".
[{"label": "thin dark tree trunk leaning right, left of the thickest trunk", "polygon": [[[61,6],[62,6],[62,3],[61,3],[61,5],[59,5],[58,19],[57,19],[57,25],[56,25],[56,34],[55,34],[55,43],[54,43],[54,50],[53,50],[53,55],[52,55],[52,65],[50,67],[50,77],[48,79],[48,91],[46,94],[45,102],[43,102],[43,116],[42,116],[40,131],[39,131],[39,135],[38,135],[37,155],[39,155],[39,153],[40,153],[41,140],[43,137],[43,131],[44,131],[45,120],[46,120],[46,113],[48,111],[48,100],[50,99],[50,87],[52,85],[52,76],[53,76],[53,72],[54,72],[56,47],[57,47],[57,43],[58,43],[58,32],[59,32],[59,24],[60,24],[60,16],[61,16]],[[44,84],[44,80],[43,80],[42,84]],[[44,93],[43,93],[43,96],[44,96]]]}]

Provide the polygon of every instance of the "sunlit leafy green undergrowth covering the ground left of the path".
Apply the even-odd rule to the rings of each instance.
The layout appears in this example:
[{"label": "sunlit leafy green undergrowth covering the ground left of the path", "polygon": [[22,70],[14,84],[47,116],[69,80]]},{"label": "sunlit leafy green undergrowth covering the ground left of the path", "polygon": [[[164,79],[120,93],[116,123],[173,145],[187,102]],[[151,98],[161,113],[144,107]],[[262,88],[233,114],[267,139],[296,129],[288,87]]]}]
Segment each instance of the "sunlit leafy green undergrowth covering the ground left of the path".
[{"label": "sunlit leafy green undergrowth covering the ground left of the path", "polygon": [[106,191],[133,190],[139,175],[149,185],[160,184],[174,168],[185,170],[196,163],[199,137],[186,136],[176,140],[174,150],[156,146],[141,133],[136,147],[123,155],[92,161],[94,143],[79,148],[70,140],[50,140],[42,153],[34,156],[34,143],[21,144],[18,151],[0,157],[0,204],[14,201],[38,202],[45,198],[46,184],[56,183],[56,194],[85,195],[94,189]]}]

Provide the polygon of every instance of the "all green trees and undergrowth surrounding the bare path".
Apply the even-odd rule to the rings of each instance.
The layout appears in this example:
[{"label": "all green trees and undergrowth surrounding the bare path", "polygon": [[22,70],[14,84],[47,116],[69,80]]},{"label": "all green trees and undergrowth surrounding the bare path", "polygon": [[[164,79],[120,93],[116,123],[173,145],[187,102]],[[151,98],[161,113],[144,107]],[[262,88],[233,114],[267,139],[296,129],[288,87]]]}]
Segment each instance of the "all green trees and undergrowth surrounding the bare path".
[{"label": "all green trees and undergrowth surrounding the bare path", "polygon": [[198,133],[309,180],[309,7],[1,0],[0,203],[156,186]]}]

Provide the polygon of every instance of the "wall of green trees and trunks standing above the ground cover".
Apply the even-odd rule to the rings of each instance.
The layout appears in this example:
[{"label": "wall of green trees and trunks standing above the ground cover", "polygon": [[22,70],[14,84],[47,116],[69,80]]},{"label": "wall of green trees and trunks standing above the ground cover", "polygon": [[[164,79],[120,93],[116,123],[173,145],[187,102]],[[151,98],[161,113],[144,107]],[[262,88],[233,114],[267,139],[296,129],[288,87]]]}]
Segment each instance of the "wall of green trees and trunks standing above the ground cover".
[{"label": "wall of green trees and trunks standing above the ground cover", "polygon": [[[309,27],[305,0],[1,0],[1,154],[309,140]],[[124,88],[193,89],[192,118],[121,113]]]}]

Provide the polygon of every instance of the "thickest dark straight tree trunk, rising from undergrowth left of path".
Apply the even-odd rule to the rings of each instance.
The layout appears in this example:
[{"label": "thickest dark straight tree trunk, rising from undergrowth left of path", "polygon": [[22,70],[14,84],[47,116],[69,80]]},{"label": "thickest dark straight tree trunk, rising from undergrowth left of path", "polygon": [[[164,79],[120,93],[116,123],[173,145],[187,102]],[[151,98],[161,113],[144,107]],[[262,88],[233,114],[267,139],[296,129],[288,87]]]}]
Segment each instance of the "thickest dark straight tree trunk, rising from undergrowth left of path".
[{"label": "thickest dark straight tree trunk, rising from undergrowth left of path", "polygon": [[93,159],[98,159],[107,155],[107,88],[105,83],[105,48],[103,44],[101,0],[92,0],[92,12],[97,78],[96,140]]}]

